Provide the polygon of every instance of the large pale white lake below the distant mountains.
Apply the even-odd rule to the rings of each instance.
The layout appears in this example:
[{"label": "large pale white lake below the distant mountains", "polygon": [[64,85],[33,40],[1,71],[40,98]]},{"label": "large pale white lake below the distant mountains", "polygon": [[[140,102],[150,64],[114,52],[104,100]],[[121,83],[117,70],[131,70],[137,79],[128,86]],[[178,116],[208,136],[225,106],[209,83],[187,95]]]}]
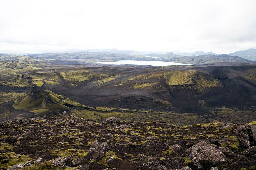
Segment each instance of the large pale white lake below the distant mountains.
[{"label": "large pale white lake below the distant mountains", "polygon": [[183,64],[183,63],[177,63],[177,62],[139,61],[139,60],[120,60],[120,61],[94,62],[94,63],[99,63],[99,64],[114,64],[114,65],[135,64],[135,65],[151,65],[151,66],[192,65],[192,64]]}]

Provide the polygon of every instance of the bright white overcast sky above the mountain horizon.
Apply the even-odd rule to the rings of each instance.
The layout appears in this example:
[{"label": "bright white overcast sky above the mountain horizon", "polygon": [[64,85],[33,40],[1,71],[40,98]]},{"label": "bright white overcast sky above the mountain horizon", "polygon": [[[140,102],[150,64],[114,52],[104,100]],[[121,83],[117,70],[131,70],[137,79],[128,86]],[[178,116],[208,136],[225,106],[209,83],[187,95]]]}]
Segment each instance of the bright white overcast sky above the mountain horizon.
[{"label": "bright white overcast sky above the mountain horizon", "polygon": [[256,0],[0,0],[0,52],[256,48]]}]

